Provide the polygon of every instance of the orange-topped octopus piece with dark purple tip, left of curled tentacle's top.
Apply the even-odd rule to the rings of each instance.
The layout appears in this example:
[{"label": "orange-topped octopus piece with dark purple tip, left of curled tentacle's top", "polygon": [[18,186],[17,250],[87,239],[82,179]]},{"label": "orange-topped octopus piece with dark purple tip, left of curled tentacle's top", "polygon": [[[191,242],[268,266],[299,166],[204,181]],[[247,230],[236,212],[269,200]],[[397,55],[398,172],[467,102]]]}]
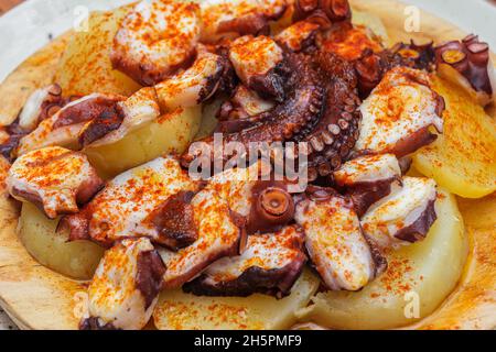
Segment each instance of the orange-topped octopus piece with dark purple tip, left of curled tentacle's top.
[{"label": "orange-topped octopus piece with dark purple tip, left of curled tentacle's top", "polygon": [[270,37],[246,35],[234,41],[229,59],[239,79],[265,99],[283,99],[283,81],[276,73],[283,59],[282,48]]}]

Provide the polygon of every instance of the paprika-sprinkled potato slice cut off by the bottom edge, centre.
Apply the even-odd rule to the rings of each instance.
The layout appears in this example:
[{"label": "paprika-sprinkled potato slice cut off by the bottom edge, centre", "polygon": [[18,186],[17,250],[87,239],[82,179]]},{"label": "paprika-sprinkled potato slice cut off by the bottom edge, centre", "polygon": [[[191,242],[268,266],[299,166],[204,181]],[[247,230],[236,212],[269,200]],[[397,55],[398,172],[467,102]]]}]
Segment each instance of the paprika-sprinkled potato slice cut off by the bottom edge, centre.
[{"label": "paprika-sprinkled potato slice cut off by the bottom edge, centre", "polygon": [[153,314],[160,330],[288,329],[319,287],[319,278],[304,271],[290,296],[276,299],[249,297],[198,297],[181,289],[164,292]]}]

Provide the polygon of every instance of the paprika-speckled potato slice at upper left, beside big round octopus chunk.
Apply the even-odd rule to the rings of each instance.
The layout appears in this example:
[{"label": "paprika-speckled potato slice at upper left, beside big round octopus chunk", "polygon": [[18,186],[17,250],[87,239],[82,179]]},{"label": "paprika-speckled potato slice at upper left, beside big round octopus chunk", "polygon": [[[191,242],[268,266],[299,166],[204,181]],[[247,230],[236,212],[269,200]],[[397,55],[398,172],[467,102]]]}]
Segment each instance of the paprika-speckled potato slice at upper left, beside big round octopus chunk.
[{"label": "paprika-speckled potato slice at upper left, beside big round octopus chunk", "polygon": [[109,57],[114,36],[128,11],[129,7],[93,12],[88,31],[74,33],[55,75],[65,96],[86,96],[95,91],[130,96],[140,88],[131,78],[115,70]]}]

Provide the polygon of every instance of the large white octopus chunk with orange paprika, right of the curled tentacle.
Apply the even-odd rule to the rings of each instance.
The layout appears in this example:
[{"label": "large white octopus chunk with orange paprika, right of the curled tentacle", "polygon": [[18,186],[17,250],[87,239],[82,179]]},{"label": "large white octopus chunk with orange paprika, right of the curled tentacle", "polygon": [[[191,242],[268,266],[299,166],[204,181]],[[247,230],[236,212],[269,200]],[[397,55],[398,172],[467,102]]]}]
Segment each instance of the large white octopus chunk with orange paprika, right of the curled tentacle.
[{"label": "large white octopus chunk with orange paprika, right of the curled tentacle", "polygon": [[429,75],[396,67],[362,103],[357,151],[406,156],[435,141],[430,132],[443,130],[444,100],[430,88]]}]

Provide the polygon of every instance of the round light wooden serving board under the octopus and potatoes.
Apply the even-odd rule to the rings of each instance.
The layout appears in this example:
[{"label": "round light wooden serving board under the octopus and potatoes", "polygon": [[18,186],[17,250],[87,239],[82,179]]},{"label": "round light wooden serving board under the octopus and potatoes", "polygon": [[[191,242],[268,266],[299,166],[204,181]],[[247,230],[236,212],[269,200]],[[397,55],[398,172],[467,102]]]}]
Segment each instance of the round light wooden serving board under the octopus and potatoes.
[{"label": "round light wooden serving board under the octopus and potatoes", "polygon": [[[429,13],[421,13],[420,32],[405,30],[405,4],[395,0],[353,0],[355,9],[379,16],[390,42],[461,38],[466,33]],[[29,94],[51,80],[66,38],[54,41],[22,64],[0,86],[0,124],[12,121]],[[496,56],[493,55],[496,62]],[[3,108],[2,108],[3,107]],[[22,329],[76,329],[77,293],[85,285],[37,264],[15,235],[19,210],[1,185],[8,165],[0,163],[0,305]],[[461,200],[471,240],[471,255],[459,288],[431,317],[411,328],[492,329],[496,326],[496,197]],[[77,310],[77,309],[76,309]]]}]

